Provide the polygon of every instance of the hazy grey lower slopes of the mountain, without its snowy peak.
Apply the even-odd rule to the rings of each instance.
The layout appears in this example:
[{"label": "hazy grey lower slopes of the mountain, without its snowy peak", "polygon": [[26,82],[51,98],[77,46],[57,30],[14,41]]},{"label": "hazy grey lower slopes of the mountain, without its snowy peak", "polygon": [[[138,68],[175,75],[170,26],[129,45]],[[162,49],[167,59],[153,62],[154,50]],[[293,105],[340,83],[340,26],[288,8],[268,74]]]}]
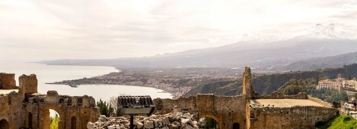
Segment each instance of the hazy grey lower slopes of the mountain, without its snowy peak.
[{"label": "hazy grey lower slopes of the mountain, without its snowy peak", "polygon": [[141,58],[41,61],[48,65],[91,65],[114,67],[259,67],[276,69],[294,62],[354,53],[357,40],[290,39],[259,43],[238,42],[221,47]]}]

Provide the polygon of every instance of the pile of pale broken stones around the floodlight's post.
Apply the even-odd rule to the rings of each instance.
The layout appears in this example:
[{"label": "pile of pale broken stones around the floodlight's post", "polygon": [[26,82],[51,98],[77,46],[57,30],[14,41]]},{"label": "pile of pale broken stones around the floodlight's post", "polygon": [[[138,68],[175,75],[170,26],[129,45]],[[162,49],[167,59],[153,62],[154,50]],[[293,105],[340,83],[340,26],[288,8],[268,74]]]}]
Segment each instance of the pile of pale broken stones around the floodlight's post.
[{"label": "pile of pale broken stones around the floodlight's post", "polygon": [[[173,112],[165,115],[151,115],[149,117],[145,116],[135,116],[134,124],[135,128],[187,128],[196,129],[198,128],[198,123],[196,121],[197,115],[191,115],[190,113],[183,112]],[[99,116],[97,122],[88,122],[87,128],[130,128],[130,117],[106,117],[104,115]]]}]

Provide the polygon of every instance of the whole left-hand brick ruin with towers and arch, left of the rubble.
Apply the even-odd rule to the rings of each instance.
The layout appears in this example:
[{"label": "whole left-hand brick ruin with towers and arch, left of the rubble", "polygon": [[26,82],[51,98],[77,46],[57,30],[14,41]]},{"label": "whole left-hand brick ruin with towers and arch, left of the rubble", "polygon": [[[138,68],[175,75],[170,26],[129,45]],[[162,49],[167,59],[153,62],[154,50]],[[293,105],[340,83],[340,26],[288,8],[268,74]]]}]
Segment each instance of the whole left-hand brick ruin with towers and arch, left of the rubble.
[{"label": "whole left-hand brick ruin with towers and arch, left of the rubble", "polygon": [[[49,128],[49,109],[60,116],[59,128],[87,128],[99,116],[93,97],[59,95],[57,91],[37,93],[35,74],[21,75],[16,86],[15,74],[0,73],[0,128]],[[2,93],[12,89],[10,93]]]}]

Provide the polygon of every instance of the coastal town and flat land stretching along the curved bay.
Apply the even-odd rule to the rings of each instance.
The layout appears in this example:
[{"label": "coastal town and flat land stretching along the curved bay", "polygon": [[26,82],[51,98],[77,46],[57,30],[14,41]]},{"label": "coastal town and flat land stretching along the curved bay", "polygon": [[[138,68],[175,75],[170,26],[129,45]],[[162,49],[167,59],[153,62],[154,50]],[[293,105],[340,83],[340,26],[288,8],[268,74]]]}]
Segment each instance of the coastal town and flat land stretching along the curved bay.
[{"label": "coastal town and flat land stretching along the curved bay", "polygon": [[238,78],[238,74],[234,72],[221,72],[216,74],[188,71],[186,73],[176,73],[163,70],[135,71],[125,69],[120,72],[112,72],[91,78],[65,80],[47,84],[62,84],[71,87],[77,87],[83,84],[145,86],[162,89],[164,90],[163,93],[170,93],[173,96],[172,98],[179,98],[195,86],[215,81],[235,81]]}]

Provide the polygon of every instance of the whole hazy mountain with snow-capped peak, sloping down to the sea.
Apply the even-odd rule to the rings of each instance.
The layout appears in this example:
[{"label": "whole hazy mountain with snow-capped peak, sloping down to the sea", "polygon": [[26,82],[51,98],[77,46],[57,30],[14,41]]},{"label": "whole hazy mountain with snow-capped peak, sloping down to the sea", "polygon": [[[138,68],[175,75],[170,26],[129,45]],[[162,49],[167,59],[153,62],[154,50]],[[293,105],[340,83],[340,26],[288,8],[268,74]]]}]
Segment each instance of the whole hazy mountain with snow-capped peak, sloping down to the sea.
[{"label": "whole hazy mountain with snow-capped peak, sloping down to the sea", "polygon": [[[316,24],[301,35],[279,41],[249,40],[220,47],[192,49],[152,57],[40,61],[48,65],[92,65],[114,67],[256,67],[267,70],[312,70],[339,67],[357,51],[357,40],[349,39],[335,24]],[[348,54],[354,53],[354,54]],[[346,55],[347,54],[347,55]],[[344,60],[339,60],[339,57]],[[326,58],[327,57],[327,58]],[[320,61],[321,63],[314,63]],[[329,61],[339,62],[329,64]],[[303,65],[302,65],[303,64]],[[314,65],[314,66],[309,66]]]}]

